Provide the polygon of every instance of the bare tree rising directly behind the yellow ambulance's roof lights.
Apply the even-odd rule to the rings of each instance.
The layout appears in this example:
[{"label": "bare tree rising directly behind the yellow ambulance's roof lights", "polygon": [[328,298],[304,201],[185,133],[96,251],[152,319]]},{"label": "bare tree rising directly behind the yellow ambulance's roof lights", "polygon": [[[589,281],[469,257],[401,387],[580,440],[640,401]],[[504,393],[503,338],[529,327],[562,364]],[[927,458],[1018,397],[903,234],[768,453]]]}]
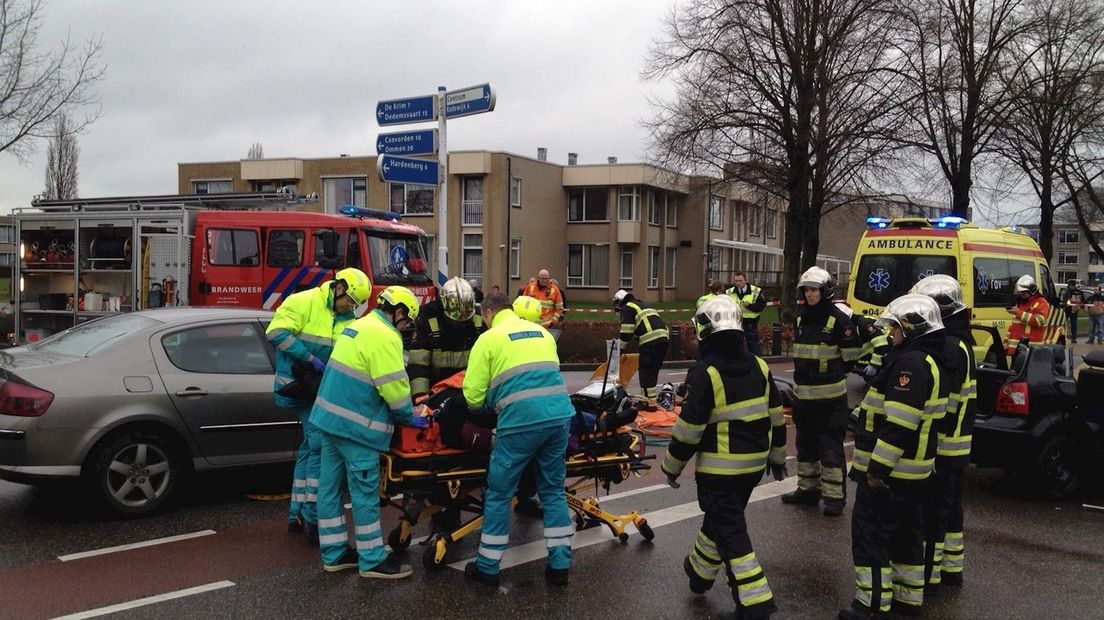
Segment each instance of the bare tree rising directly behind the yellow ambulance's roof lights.
[{"label": "bare tree rising directly behind the yellow ambulance's roof lights", "polygon": [[[979,156],[1011,96],[1001,70],[1027,30],[1023,0],[899,0],[912,131],[906,143],[931,154],[951,185],[952,213],[965,217]],[[1008,75],[1015,75],[1011,71]]]}]

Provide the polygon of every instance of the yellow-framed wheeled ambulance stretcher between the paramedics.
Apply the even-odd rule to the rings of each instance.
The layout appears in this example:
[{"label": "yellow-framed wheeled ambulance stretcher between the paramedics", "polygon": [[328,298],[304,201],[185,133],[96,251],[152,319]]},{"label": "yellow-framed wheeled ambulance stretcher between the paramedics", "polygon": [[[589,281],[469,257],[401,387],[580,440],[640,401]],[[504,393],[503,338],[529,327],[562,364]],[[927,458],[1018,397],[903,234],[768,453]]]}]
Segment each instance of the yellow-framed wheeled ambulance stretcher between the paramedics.
[{"label": "yellow-framed wheeled ambulance stretcher between the paramedics", "polygon": [[[415,429],[402,430],[418,432]],[[655,456],[645,455],[644,438],[624,427],[614,431],[577,435],[576,438],[576,448],[565,455],[567,475],[564,489],[576,528],[605,525],[624,543],[628,541],[627,530],[631,524],[645,541],[651,541],[655,533],[644,516],[636,511],[627,514],[606,512],[597,496],[599,489],[608,491],[612,484],[650,469],[646,461],[655,459]],[[420,449],[426,446],[432,449]],[[482,490],[490,460],[487,453],[437,446],[438,442],[424,435],[418,441],[405,442],[396,437],[391,451],[381,455],[380,460],[382,502],[402,512],[399,525],[388,536],[388,544],[393,550],[410,546],[412,528],[438,512],[453,510],[470,515],[461,517],[457,528],[435,533],[425,542],[422,564],[426,568],[442,566],[450,545],[481,527]],[[594,492],[586,493],[592,485]]]}]

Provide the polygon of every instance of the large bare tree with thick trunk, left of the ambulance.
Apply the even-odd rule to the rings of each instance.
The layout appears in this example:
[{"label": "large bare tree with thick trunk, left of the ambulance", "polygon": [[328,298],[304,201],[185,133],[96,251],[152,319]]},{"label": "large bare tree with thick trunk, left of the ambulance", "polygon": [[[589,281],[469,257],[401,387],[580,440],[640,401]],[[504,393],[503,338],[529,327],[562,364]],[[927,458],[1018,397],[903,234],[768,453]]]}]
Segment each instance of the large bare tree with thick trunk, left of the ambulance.
[{"label": "large bare tree with thick trunk, left of the ambulance", "polygon": [[648,122],[654,157],[787,203],[783,307],[816,260],[825,204],[890,148],[896,62],[889,0],[692,0],[673,8],[645,76],[672,101]]}]

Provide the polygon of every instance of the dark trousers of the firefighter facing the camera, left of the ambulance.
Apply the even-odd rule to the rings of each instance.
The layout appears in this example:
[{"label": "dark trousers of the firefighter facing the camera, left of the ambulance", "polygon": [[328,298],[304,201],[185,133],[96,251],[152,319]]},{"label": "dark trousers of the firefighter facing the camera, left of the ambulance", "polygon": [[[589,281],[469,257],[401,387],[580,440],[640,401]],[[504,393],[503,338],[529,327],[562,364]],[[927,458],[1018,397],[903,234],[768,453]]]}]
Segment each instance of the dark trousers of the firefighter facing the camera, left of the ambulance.
[{"label": "dark trousers of the firefighter facing the camera, left of the ambulance", "polygon": [[820,491],[825,501],[847,501],[843,484],[843,436],[847,435],[847,396],[824,400],[797,399],[797,488]]}]

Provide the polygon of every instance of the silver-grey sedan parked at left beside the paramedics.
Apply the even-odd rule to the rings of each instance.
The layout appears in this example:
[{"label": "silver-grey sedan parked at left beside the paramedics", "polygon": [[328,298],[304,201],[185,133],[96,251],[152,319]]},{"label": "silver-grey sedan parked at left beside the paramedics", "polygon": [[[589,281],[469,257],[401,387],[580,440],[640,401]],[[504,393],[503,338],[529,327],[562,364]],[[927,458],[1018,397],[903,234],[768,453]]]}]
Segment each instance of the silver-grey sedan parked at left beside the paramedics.
[{"label": "silver-grey sedan parked at left beside the paramedics", "polygon": [[0,478],[78,479],[138,515],[189,472],[294,460],[299,423],[273,400],[270,319],[146,310],[0,351]]}]

